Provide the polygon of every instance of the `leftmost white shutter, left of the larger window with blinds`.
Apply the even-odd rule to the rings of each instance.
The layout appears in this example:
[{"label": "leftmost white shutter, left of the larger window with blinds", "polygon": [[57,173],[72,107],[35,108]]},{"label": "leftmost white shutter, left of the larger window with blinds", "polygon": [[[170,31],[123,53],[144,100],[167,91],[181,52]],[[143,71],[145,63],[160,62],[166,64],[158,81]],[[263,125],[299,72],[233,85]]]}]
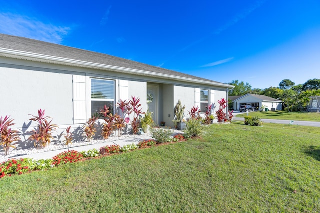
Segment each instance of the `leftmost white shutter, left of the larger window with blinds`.
[{"label": "leftmost white shutter, left of the larger window with blinds", "polygon": [[85,123],[85,75],[73,75],[73,124]]}]

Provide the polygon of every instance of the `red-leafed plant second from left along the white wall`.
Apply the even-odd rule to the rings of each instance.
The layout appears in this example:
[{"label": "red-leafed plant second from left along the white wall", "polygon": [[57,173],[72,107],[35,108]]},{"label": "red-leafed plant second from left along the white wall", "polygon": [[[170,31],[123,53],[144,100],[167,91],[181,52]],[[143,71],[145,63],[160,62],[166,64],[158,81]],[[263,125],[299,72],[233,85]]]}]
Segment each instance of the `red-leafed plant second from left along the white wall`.
[{"label": "red-leafed plant second from left along the white wall", "polygon": [[[51,124],[52,118],[44,116],[44,110],[38,110],[38,116],[31,115],[33,118],[29,120],[37,122],[37,127],[31,130],[31,135],[28,140],[34,141],[34,147],[44,147],[46,143],[50,143],[52,139],[52,131],[57,128],[57,125]],[[48,119],[51,119],[48,121]]]}]

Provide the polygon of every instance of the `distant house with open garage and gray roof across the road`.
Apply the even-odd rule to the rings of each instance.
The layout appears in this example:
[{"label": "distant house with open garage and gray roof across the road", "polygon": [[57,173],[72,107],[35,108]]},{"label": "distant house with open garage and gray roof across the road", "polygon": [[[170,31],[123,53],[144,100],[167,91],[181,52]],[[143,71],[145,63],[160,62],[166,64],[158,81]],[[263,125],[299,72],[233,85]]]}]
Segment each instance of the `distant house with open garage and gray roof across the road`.
[{"label": "distant house with open garage and gray roof across the road", "polygon": [[232,101],[232,106],[234,110],[238,110],[240,105],[251,105],[254,108],[260,109],[264,105],[268,110],[281,110],[282,101],[271,98],[265,95],[256,95],[247,93],[242,96],[229,96]]}]

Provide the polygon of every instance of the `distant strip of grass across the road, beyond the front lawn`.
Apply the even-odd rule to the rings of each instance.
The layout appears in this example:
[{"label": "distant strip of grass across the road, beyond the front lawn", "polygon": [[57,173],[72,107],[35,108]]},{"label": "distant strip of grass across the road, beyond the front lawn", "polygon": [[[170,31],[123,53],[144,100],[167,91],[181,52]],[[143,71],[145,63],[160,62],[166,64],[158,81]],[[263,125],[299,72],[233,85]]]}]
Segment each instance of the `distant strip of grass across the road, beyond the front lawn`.
[{"label": "distant strip of grass across the road, beyond the front lawn", "polygon": [[[250,116],[259,118],[296,120],[296,121],[320,121],[320,113],[316,112],[285,112],[285,111],[267,111],[267,112],[249,112]],[[238,114],[235,117],[244,117],[246,113]]]}]

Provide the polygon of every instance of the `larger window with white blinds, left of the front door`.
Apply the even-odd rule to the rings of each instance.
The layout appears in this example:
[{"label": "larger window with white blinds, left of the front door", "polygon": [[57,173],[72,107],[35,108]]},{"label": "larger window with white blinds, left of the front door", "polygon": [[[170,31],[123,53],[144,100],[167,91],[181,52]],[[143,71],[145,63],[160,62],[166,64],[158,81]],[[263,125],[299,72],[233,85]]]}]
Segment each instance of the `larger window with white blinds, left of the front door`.
[{"label": "larger window with white blinds, left of the front door", "polygon": [[114,81],[91,78],[91,115],[106,105],[113,111]]}]

